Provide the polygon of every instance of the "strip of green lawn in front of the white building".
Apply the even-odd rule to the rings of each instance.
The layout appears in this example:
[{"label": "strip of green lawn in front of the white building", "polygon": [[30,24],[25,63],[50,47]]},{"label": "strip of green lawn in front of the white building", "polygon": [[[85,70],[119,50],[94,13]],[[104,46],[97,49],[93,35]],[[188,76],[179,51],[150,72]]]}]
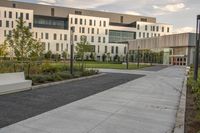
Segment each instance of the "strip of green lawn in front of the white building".
[{"label": "strip of green lawn in front of the white building", "polygon": [[[80,65],[80,62],[77,62],[76,65]],[[107,62],[91,62],[91,61],[87,61],[84,62],[84,66],[86,68],[107,68],[107,69],[126,69],[126,64],[114,64],[114,63],[107,63]],[[140,68],[144,68],[144,67],[149,67],[150,65],[148,64],[140,64],[139,65],[139,69]],[[131,64],[129,63],[129,69],[138,69],[137,68],[137,64]]]}]

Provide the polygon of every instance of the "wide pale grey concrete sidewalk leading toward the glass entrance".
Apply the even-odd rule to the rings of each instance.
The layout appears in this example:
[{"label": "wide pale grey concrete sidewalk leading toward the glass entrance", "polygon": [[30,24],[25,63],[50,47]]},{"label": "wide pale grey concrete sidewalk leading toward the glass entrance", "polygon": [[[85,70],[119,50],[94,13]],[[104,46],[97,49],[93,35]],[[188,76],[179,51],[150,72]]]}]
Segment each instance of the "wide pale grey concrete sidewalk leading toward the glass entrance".
[{"label": "wide pale grey concrete sidewalk leading toward the glass entrance", "polygon": [[172,132],[185,68],[136,73],[147,76],[2,128],[0,133]]}]

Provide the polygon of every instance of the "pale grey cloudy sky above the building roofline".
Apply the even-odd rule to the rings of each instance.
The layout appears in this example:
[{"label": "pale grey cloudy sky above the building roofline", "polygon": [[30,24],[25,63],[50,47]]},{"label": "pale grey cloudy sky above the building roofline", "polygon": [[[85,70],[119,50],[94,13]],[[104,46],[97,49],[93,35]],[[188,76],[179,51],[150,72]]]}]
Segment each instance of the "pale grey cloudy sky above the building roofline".
[{"label": "pale grey cloudy sky above the building roofline", "polygon": [[46,5],[156,17],[174,26],[174,33],[195,32],[200,0],[17,0]]}]

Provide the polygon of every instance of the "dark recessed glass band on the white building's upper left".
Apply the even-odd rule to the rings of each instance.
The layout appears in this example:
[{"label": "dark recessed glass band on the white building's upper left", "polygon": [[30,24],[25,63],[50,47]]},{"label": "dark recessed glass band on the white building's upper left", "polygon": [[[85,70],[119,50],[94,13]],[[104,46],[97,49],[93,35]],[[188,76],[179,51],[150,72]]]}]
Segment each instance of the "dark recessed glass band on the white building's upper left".
[{"label": "dark recessed glass band on the white building's upper left", "polygon": [[68,29],[67,18],[34,16],[34,27]]}]

